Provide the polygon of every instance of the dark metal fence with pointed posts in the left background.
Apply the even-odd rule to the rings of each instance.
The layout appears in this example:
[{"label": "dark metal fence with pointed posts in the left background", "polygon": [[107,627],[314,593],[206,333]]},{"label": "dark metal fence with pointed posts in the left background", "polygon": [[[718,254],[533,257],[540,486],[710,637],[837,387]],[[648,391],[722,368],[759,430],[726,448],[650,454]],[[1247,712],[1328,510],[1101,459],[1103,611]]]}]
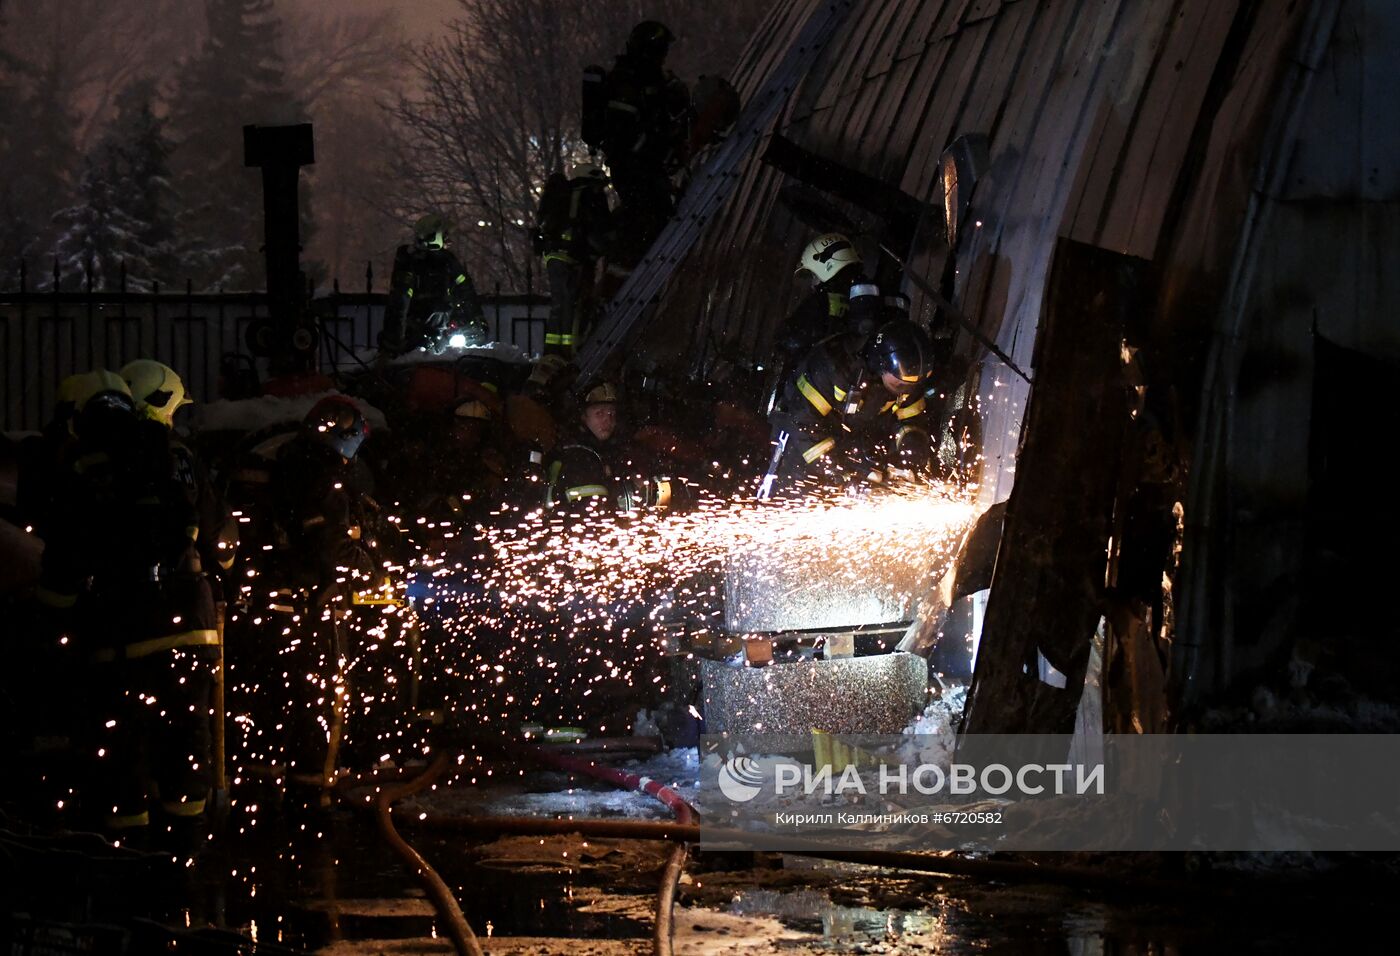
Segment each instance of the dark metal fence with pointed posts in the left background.
[{"label": "dark metal fence with pointed posts in the left background", "polygon": [[[384,325],[384,293],[332,291],[312,301],[321,316],[318,367],[344,368],[372,349]],[[60,288],[55,281],[53,288]],[[536,354],[545,344],[549,300],[539,295],[482,298],[491,337]],[[0,290],[0,430],[39,428],[64,377],[91,368],[120,368],[133,358],[155,358],[175,368],[200,402],[218,398],[225,356],[249,356],[245,332],[267,315],[263,293],[200,294],[154,288],[144,293],[94,290],[29,291],[21,273],[17,291]],[[251,360],[251,358],[249,358]],[[263,370],[263,363],[255,367]]]}]

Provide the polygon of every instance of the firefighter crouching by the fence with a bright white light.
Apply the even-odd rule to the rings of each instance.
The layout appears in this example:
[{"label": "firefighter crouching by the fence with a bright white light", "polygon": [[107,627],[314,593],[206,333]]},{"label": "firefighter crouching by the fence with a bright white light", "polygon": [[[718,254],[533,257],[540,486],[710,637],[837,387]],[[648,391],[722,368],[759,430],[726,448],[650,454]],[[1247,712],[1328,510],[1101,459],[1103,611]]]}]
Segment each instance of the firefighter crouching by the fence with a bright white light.
[{"label": "firefighter crouching by the fence with a bright white light", "polygon": [[437,213],[413,224],[413,245],[393,253],[393,279],[379,349],[396,356],[414,349],[441,353],[454,340],[484,344],[486,318],[466,267],[447,248],[448,225]]}]

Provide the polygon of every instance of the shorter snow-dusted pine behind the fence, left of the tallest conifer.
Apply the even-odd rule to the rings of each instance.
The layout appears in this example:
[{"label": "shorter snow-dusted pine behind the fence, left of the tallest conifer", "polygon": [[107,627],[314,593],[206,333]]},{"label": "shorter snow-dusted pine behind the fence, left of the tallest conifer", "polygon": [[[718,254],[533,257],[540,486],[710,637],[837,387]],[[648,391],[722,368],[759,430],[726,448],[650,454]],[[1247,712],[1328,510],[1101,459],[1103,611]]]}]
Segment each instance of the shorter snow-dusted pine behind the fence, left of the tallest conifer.
[{"label": "shorter snow-dusted pine behind the fence, left of the tallest conifer", "polygon": [[55,216],[64,288],[80,288],[88,267],[94,288],[116,288],[123,262],[133,291],[178,279],[171,146],[154,98],[150,81],[122,91],[115,116],[83,164],[78,203]]}]

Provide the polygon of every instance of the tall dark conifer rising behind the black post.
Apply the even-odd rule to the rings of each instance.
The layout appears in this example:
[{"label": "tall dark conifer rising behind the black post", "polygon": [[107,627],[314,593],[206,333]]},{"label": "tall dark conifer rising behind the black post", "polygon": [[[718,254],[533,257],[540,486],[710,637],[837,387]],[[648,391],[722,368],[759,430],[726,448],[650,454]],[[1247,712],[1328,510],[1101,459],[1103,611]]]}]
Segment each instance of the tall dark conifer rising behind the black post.
[{"label": "tall dark conifer rising behind the black post", "polygon": [[171,133],[181,263],[197,288],[265,284],[262,185],[244,167],[248,123],[304,122],[288,92],[273,0],[206,0],[209,35],[179,73]]}]

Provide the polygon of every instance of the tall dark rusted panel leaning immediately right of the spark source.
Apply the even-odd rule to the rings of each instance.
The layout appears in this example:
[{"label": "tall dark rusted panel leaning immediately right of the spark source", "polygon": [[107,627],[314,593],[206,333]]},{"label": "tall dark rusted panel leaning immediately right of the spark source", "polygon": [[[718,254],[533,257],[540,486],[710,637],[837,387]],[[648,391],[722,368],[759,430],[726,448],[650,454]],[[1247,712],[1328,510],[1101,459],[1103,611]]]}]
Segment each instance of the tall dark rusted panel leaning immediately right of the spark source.
[{"label": "tall dark rusted panel leaning immediately right of the spark source", "polygon": [[[1148,263],[1061,239],[1036,344],[1037,385],[987,600],[966,733],[1070,733],[1102,613],[1116,462],[1128,424],[1121,342]],[[1050,372],[1051,374],[1046,374]],[[1037,661],[1065,676],[1039,679]]]}]

